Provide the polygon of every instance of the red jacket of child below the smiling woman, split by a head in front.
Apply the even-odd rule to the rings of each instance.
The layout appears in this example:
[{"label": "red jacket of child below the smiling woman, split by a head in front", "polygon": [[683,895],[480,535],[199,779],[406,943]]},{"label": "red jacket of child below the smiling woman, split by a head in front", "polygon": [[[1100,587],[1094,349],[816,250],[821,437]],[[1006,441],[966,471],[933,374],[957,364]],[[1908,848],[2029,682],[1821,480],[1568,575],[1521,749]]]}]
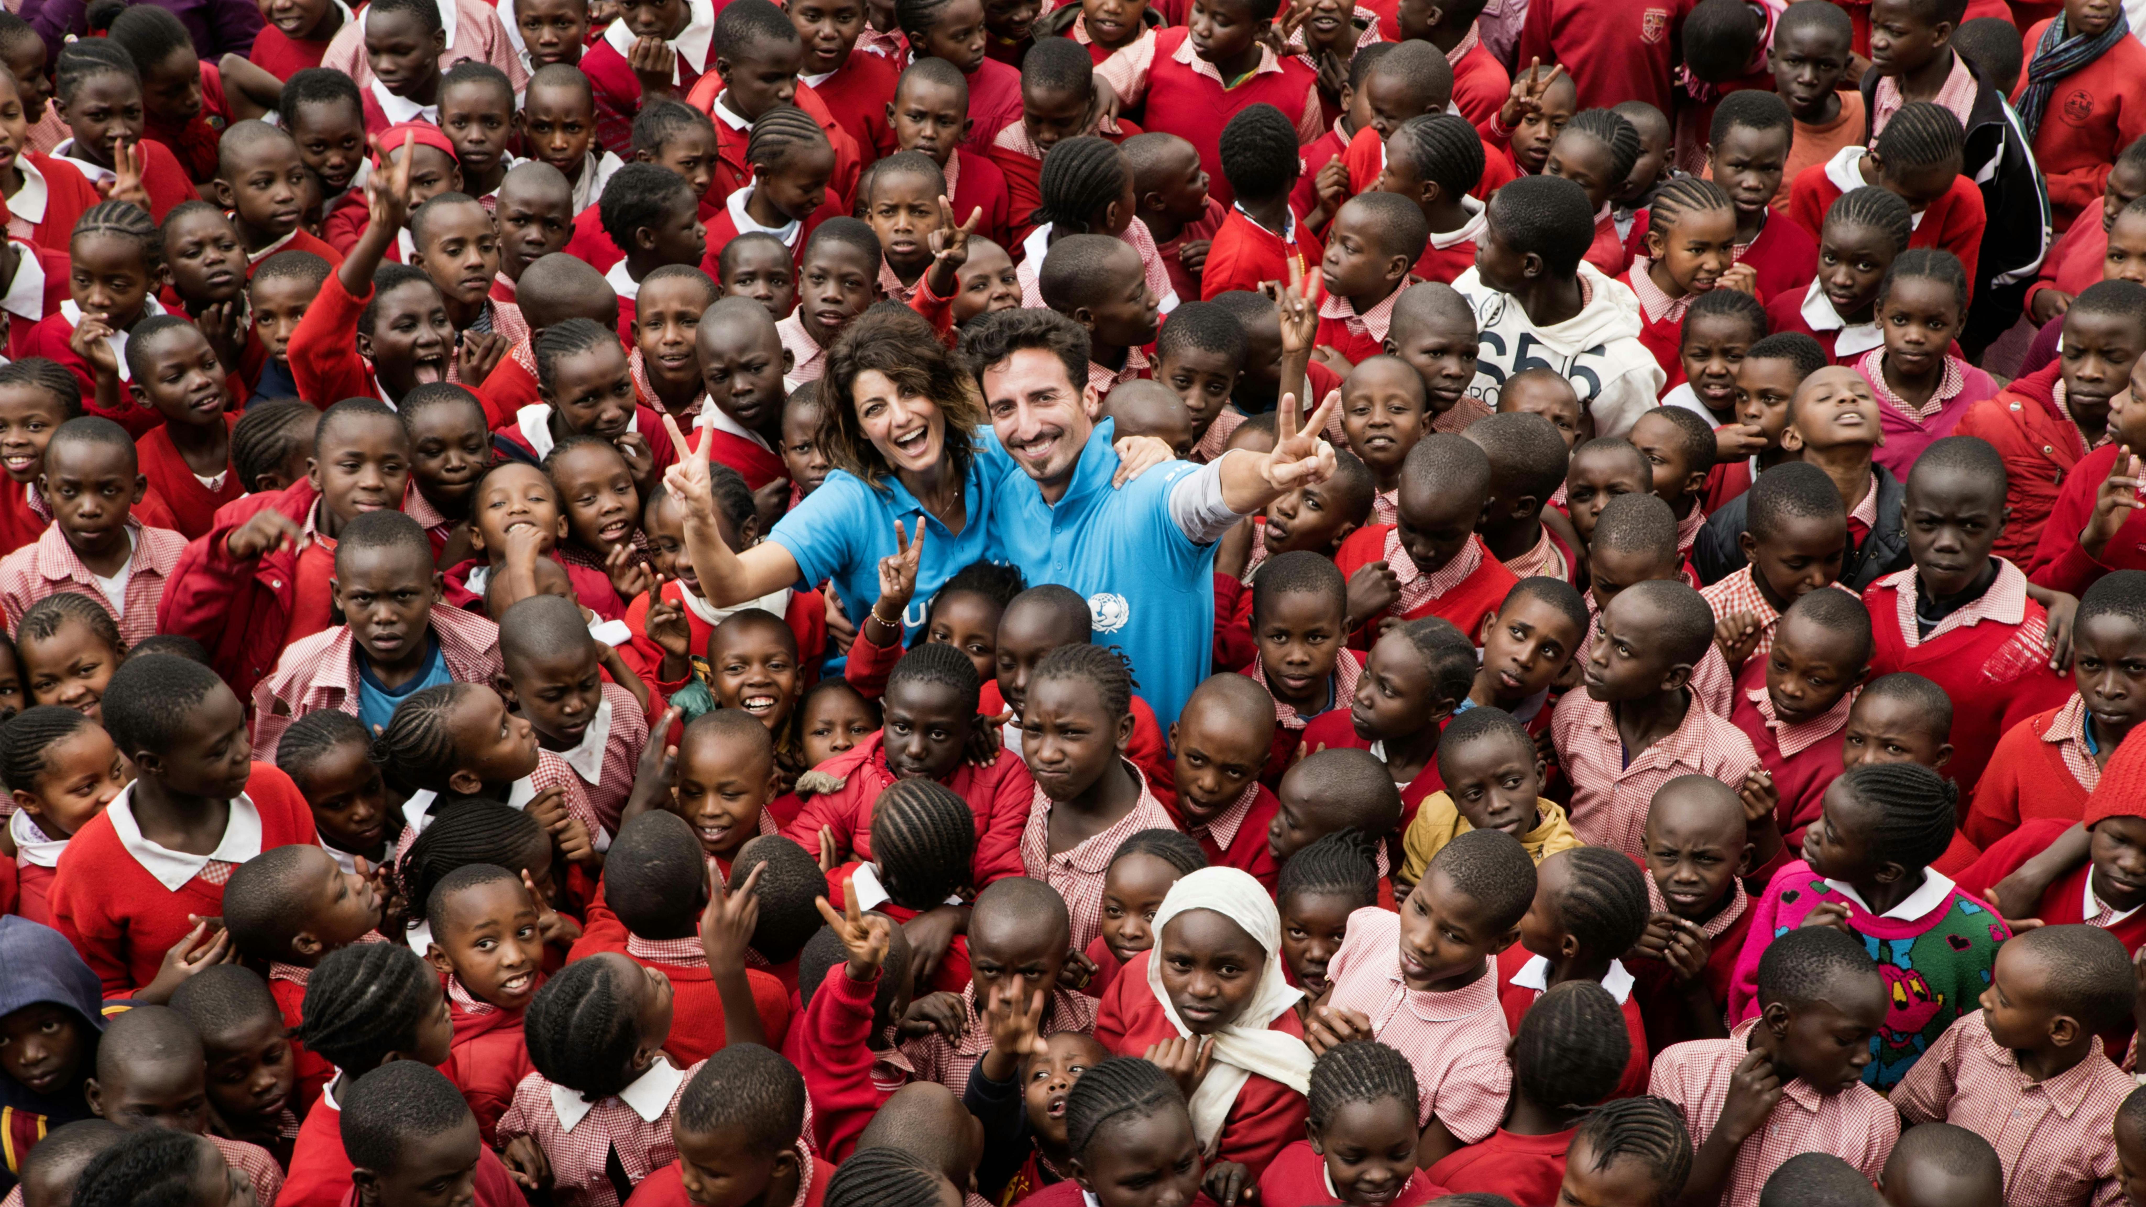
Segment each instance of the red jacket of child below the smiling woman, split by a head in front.
[{"label": "red jacket of child below the smiling woman, split by a head in front", "polygon": [[[869,861],[873,857],[873,810],[880,792],[897,780],[886,765],[884,737],[884,732],[869,732],[854,747],[822,762],[815,771],[841,780],[841,788],[815,792],[805,801],[796,820],[783,827],[783,835],[805,850],[818,850],[820,829],[833,827],[839,846],[856,859]],[[946,788],[968,801],[976,818],[974,885],[981,889],[1002,876],[1019,876],[1021,827],[1028,825],[1028,808],[1037,790],[1019,756],[1000,752],[989,767],[961,762],[946,777]]]}]

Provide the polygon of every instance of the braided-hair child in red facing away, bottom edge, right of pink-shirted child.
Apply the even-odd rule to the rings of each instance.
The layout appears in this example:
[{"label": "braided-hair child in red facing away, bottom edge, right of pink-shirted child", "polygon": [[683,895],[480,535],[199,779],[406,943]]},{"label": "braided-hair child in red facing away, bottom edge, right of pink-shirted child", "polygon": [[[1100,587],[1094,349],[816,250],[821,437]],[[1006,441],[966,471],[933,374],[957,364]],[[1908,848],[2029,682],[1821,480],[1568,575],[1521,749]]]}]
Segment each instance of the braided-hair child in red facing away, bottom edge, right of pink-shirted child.
[{"label": "braided-hair child in red facing away, bottom edge, right of pink-shirted child", "polygon": [[1629,1059],[1625,1012],[1610,990],[1597,981],[1552,986],[1513,1033],[1513,1110],[1506,1121],[1485,1140],[1423,1170],[1423,1177],[1453,1194],[1554,1203],[1579,1128],[1618,1093]]}]

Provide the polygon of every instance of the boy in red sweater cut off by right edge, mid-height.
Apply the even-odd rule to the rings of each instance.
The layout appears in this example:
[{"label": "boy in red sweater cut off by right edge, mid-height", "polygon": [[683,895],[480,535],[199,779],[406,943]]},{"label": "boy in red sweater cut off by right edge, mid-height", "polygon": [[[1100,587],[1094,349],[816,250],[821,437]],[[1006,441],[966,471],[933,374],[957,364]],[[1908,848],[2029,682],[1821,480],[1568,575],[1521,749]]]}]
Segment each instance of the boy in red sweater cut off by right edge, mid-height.
[{"label": "boy in red sweater cut off by right edge, mid-height", "polygon": [[2118,569],[2088,586],[2071,649],[2077,692],[2004,730],[1974,786],[1961,829],[1983,850],[2022,823],[2077,820],[2116,747],[2146,719],[2146,677],[2133,674],[2146,661],[2146,573]]}]

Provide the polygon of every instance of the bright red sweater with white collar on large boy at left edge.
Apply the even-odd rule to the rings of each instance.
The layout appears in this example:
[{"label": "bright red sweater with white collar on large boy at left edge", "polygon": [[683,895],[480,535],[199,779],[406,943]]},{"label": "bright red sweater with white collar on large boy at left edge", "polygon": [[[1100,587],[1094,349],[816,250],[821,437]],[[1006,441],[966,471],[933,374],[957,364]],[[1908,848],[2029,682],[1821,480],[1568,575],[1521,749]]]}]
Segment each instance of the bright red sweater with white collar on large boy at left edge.
[{"label": "bright red sweater with white collar on large boy at left edge", "polygon": [[255,762],[232,799],[223,840],[208,855],[159,846],[133,816],[133,784],[90,818],[52,881],[52,924],[82,951],[105,997],[157,979],[165,951],[187,936],[187,915],[223,913],[232,870],[270,846],[318,844],[313,810],[290,775]]}]

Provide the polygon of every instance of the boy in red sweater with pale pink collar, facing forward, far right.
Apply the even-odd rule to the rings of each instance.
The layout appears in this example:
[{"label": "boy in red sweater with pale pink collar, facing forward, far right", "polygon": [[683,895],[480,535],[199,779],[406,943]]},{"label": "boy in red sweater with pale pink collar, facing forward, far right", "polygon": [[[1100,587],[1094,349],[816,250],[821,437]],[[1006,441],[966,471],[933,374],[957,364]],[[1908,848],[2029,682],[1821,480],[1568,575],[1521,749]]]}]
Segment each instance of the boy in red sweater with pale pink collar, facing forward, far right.
[{"label": "boy in red sweater with pale pink collar, facing forward, far right", "polygon": [[[1820,369],[1843,372],[1854,369]],[[1951,773],[1972,792],[1998,737],[2062,704],[2071,685],[2049,668],[2047,612],[2028,599],[2026,576],[1989,552],[2004,526],[1996,449],[1972,436],[1934,442],[1908,472],[1906,513],[1914,565],[1863,593],[1878,638],[1871,674],[1914,670],[1944,687]]]}]

